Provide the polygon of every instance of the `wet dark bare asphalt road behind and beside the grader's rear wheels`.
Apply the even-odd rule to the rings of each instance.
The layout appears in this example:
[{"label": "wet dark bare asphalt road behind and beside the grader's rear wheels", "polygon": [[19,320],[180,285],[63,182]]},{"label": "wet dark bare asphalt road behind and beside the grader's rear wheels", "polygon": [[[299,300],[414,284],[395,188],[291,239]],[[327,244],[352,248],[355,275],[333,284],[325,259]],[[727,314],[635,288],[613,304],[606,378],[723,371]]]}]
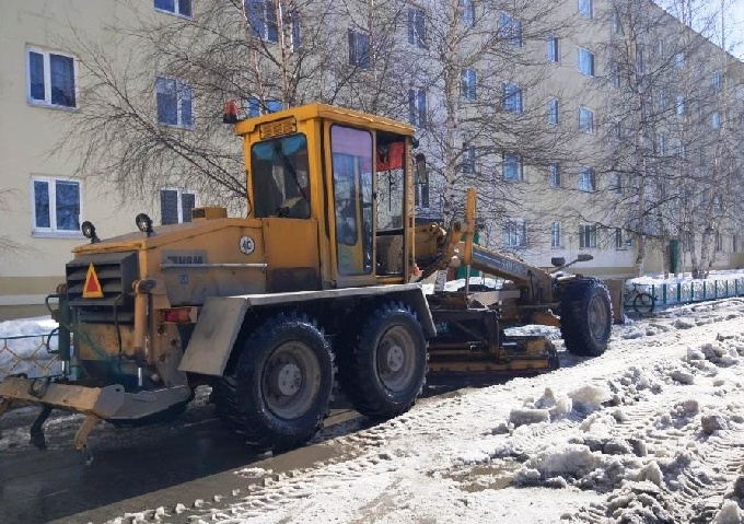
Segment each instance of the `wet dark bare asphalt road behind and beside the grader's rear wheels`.
[{"label": "wet dark bare asphalt road behind and beside the grader's rear wheels", "polygon": [[[321,438],[365,423],[356,411],[336,409]],[[97,524],[146,509],[188,508],[199,499],[209,504],[216,494],[226,503],[240,498],[234,490],[244,491],[249,484],[236,469],[280,473],[333,454],[328,446],[309,445],[277,456],[256,455],[223,427],[211,406],[189,409],[167,426],[94,432],[90,465],[71,441],[51,434],[47,440],[47,451],[22,446],[0,452],[0,524]],[[168,522],[187,523],[188,512]]]}]

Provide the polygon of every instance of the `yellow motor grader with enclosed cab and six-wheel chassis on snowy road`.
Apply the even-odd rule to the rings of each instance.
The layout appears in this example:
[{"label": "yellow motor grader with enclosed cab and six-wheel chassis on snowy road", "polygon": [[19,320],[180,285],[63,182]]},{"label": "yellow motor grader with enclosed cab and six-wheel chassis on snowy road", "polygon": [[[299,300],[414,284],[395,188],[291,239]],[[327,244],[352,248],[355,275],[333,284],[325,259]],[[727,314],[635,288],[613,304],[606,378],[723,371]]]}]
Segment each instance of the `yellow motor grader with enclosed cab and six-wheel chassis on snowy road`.
[{"label": "yellow motor grader with enclosed cab and six-wheel chassis on snowy road", "polygon": [[[209,384],[230,427],[283,450],[314,435],[337,380],[358,411],[385,419],[412,406],[427,373],[558,365],[546,338],[507,327],[559,326],[568,351],[605,350],[606,288],[474,245],[473,191],[464,221],[416,224],[427,168],[410,126],[322,104],[228,120],[243,139],[246,218],[198,208],[153,228],[140,214],[139,231],[107,240],[83,223],[91,242],[50,295],[62,373],[0,383],[0,414],[42,407],[40,447],[53,409],[86,416],[83,449],[100,420],[162,421]],[[420,280],[453,259],[509,283],[426,294]]]}]

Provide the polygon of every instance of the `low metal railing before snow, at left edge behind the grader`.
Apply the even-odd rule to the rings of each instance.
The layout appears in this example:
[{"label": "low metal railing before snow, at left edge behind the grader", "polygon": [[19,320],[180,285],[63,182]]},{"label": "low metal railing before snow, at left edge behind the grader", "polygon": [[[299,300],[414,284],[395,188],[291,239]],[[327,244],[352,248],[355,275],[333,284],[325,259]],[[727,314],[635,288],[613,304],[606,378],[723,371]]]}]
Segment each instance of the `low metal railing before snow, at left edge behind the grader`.
[{"label": "low metal railing before snow, at left edge behind the grader", "polygon": [[0,382],[9,375],[49,376],[61,372],[56,333],[0,338]]}]

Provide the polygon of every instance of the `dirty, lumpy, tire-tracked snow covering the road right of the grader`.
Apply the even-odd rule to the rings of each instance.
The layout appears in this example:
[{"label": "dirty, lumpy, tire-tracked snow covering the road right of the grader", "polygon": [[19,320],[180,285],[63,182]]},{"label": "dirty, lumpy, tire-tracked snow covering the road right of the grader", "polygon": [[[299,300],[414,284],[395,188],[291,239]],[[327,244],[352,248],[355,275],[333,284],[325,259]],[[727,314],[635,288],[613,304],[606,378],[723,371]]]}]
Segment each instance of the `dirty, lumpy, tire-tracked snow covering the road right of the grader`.
[{"label": "dirty, lumpy, tire-tracked snow covering the road right of the grader", "polygon": [[[551,373],[314,443],[329,462],[236,469],[237,502],[206,493],[108,522],[744,522],[744,300],[616,326],[595,359],[557,346]],[[25,435],[3,438],[0,451]]]}]

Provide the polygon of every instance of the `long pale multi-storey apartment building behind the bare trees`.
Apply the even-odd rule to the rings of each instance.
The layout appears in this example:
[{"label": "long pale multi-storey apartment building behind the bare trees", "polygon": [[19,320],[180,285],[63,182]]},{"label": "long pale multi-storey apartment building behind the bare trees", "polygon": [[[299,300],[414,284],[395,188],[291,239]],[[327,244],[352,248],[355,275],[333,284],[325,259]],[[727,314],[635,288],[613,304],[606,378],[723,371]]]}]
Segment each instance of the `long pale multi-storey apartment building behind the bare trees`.
[{"label": "long pale multi-storey apartment building behind the bare trees", "polygon": [[[247,0],[245,10],[235,13],[237,38],[257,42],[254,47],[236,46],[245,50],[231,59],[237,71],[267,74],[279,61],[307,68],[243,79],[242,88],[231,94],[244,101],[246,116],[276,110],[282,103],[321,101],[408,119],[420,128],[432,166],[430,185],[417,187],[419,214],[456,216],[462,190],[476,185],[481,195],[481,242],[539,266],[549,266],[551,257],[571,259],[581,252],[594,256],[582,266],[586,273],[630,276],[639,228],[654,238],[646,246],[648,271],[669,267],[662,254],[670,244],[699,244],[699,237],[687,241],[687,232],[677,228],[682,221],[663,234],[654,232],[665,223],[662,216],[639,211],[638,199],[632,199],[639,184],[651,187],[659,178],[639,182],[628,159],[638,156],[640,149],[618,145],[624,136],[633,136],[637,116],[624,116],[624,104],[629,104],[624,85],[650,74],[654,60],[655,71],[699,70],[696,81],[709,79],[711,88],[722,86],[718,92],[726,97],[724,107],[698,104],[696,115],[709,123],[709,131],[696,128],[693,135],[710,138],[722,126],[733,133],[737,126],[741,141],[744,66],[655,4],[646,3],[644,15],[660,23],[637,38],[631,60],[627,46],[619,60],[613,50],[624,48],[636,14],[613,10],[609,0],[522,0],[503,5],[481,0],[399,1],[380,13],[375,4],[362,0],[344,2],[344,11],[334,2],[315,3],[288,12],[281,0]],[[209,5],[208,0],[2,2],[0,210],[5,220],[0,223],[0,245],[5,247],[0,254],[0,318],[44,311],[44,296],[62,280],[70,249],[85,242],[79,232],[82,221],[92,221],[100,236],[109,237],[130,231],[138,212],[150,213],[155,223],[173,223],[189,220],[193,207],[211,203],[201,201],[210,181],[197,177],[188,185],[153,178],[149,198],[127,198],[108,177],[81,170],[84,147],[63,140],[75,131],[75,117],[93,101],[89,95],[95,79],[77,54],[75,42],[78,46],[80,38],[95,42],[128,60],[132,51],[120,48],[116,27],[154,20],[163,26],[181,23],[185,31]],[[457,19],[454,25],[447,23],[452,16]],[[241,24],[247,26],[247,36],[240,35]],[[313,31],[318,24],[327,31]],[[454,32],[447,33],[452,27]],[[311,35],[326,39],[318,45]],[[442,43],[457,37],[458,44],[450,46],[456,53],[440,53],[446,47]],[[196,54],[198,46],[190,45],[189,51]],[[287,53],[280,53],[280,46]],[[292,53],[305,53],[303,60],[292,62]],[[383,66],[386,74],[375,75]],[[200,91],[208,84],[201,82],[204,70],[189,78],[188,71],[182,75],[166,69],[148,66],[132,75],[138,103],[150,109],[153,128],[200,137],[200,129],[211,121]],[[270,81],[260,81],[266,79]],[[650,145],[641,145],[651,151],[643,158],[653,162],[666,158],[666,151],[681,155],[685,149],[707,148],[696,168],[702,176],[712,170],[710,151],[721,142],[697,148],[693,138],[683,141],[679,126],[673,126],[685,121],[684,107],[689,108],[697,94],[682,89],[690,79],[670,74],[664,89],[653,84],[656,102],[664,98],[665,116],[648,138]],[[390,84],[388,92],[382,91],[383,83]],[[287,95],[288,84],[294,85],[292,96]],[[724,100],[722,94],[711,96]],[[225,137],[218,138],[240,151]],[[606,154],[608,150],[616,154]],[[679,170],[683,164],[664,165]],[[678,185],[677,179],[666,181],[672,187],[664,190]],[[446,209],[443,196],[455,209]],[[707,197],[714,203],[714,195]],[[652,199],[649,207],[661,209],[660,202],[666,200]],[[682,213],[671,206],[664,209]],[[609,212],[616,210],[640,212],[648,221],[639,225],[632,213]],[[739,210],[729,202],[726,212],[716,218],[716,267],[744,265]]]}]

